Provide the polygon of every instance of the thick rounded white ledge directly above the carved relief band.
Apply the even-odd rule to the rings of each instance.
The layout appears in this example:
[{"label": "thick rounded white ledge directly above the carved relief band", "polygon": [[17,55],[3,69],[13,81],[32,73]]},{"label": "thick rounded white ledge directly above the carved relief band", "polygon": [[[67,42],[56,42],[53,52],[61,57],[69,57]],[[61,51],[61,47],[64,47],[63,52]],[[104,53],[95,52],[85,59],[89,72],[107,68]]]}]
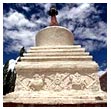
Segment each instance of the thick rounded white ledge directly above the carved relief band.
[{"label": "thick rounded white ledge directly above the carved relief band", "polygon": [[43,61],[43,62],[17,62],[18,73],[49,73],[49,72],[97,72],[98,65],[94,61]]}]

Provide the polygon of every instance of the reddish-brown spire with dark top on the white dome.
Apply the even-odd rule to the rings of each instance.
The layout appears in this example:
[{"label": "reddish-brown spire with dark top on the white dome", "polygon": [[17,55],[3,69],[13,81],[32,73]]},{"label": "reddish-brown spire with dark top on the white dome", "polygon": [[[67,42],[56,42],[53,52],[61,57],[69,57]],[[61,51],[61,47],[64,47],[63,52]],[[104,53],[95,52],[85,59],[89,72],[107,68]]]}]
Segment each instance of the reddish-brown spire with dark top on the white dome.
[{"label": "reddish-brown spire with dark top on the white dome", "polygon": [[55,6],[51,6],[48,14],[51,16],[50,26],[58,26],[58,22],[56,19],[56,15],[58,15],[58,11]]}]

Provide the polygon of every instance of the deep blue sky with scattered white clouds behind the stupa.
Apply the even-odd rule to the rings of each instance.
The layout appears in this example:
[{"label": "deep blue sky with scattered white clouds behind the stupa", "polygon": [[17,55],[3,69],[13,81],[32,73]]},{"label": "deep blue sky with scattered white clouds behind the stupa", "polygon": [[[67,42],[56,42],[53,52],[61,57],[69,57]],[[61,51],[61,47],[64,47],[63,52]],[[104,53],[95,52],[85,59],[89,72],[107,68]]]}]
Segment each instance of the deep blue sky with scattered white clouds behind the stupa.
[{"label": "deep blue sky with scattered white clouds behind the stupa", "polygon": [[74,43],[86,48],[99,64],[99,74],[107,69],[107,4],[3,4],[3,63],[16,59],[22,46],[35,45],[36,33],[49,25],[47,11],[55,5],[60,26],[75,36]]}]

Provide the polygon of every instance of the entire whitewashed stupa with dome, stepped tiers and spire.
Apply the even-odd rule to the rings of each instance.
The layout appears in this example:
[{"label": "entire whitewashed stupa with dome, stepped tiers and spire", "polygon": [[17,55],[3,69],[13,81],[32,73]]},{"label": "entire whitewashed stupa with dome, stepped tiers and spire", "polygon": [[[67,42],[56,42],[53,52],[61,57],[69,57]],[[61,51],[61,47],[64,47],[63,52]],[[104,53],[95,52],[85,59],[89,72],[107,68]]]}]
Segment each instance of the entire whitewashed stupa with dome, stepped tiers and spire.
[{"label": "entire whitewashed stupa with dome, stepped tiers and spire", "polygon": [[106,103],[97,75],[98,64],[81,45],[74,44],[70,30],[58,26],[57,14],[51,7],[50,26],[37,33],[36,46],[17,63],[15,91],[4,96],[4,104]]}]

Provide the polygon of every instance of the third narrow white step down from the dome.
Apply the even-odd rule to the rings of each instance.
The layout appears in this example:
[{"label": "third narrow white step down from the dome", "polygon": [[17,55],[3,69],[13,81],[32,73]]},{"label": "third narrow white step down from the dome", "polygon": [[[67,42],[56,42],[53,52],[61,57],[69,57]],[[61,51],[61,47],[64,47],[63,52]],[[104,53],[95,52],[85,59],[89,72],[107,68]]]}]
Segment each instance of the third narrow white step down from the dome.
[{"label": "third narrow white step down from the dome", "polygon": [[34,56],[50,56],[50,57],[53,57],[53,56],[88,56],[89,53],[88,52],[74,52],[74,53],[24,53],[23,54],[24,57],[34,57]]}]

